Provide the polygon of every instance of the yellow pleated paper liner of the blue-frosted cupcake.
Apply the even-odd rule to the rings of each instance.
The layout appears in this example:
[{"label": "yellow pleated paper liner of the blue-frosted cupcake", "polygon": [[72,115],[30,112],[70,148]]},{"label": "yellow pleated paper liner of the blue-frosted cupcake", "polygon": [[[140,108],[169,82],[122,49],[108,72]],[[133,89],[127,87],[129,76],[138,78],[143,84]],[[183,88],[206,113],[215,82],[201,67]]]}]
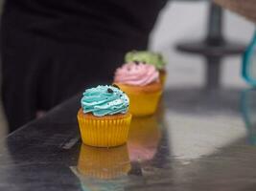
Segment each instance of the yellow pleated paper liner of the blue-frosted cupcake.
[{"label": "yellow pleated paper liner of the blue-frosted cupcake", "polygon": [[81,110],[78,121],[81,140],[84,144],[96,147],[113,147],[125,144],[128,139],[128,129],[131,115],[125,117],[86,117]]}]

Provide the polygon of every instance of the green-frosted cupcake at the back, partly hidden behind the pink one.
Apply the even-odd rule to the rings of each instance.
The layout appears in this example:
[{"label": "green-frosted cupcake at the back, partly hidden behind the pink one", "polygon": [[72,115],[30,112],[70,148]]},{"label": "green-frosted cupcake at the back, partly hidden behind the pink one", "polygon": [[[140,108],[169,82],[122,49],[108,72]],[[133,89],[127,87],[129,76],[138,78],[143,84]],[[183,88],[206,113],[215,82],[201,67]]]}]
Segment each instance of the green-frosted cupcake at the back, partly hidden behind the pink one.
[{"label": "green-frosted cupcake at the back, partly hidden behind the pink one", "polygon": [[145,62],[153,65],[160,74],[160,81],[162,85],[165,84],[166,81],[166,61],[160,53],[152,53],[148,51],[132,51],[126,54],[125,57],[126,62]]}]

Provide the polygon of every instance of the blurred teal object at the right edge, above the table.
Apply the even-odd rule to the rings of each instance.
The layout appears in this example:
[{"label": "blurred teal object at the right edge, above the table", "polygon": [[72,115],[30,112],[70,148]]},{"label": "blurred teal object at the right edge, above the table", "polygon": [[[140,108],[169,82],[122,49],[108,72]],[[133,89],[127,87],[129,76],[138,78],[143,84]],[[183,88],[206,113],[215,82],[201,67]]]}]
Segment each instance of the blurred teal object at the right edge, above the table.
[{"label": "blurred teal object at the right edge, above the table", "polygon": [[250,85],[256,87],[256,31],[244,53],[242,74]]}]

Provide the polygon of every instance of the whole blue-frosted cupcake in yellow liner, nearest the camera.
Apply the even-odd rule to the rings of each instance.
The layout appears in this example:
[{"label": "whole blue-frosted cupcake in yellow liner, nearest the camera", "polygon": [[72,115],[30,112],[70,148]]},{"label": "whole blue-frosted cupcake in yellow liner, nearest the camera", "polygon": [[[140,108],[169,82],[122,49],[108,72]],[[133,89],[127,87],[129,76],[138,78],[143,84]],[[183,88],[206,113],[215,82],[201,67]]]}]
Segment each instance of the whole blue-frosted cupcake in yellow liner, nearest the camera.
[{"label": "whole blue-frosted cupcake in yellow liner, nearest the camera", "polygon": [[85,90],[78,113],[82,142],[96,147],[126,143],[131,119],[128,104],[128,96],[113,86]]}]

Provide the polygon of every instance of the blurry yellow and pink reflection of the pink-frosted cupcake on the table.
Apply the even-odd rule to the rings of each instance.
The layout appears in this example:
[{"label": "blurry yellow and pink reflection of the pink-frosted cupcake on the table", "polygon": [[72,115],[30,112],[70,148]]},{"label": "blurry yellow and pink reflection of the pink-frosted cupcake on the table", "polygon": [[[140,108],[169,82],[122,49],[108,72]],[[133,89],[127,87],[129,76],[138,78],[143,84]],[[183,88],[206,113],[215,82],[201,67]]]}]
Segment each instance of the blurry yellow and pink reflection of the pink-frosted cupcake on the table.
[{"label": "blurry yellow and pink reflection of the pink-frosted cupcake on the table", "polygon": [[155,116],[133,117],[128,134],[128,153],[131,161],[150,160],[154,157],[161,138]]}]

